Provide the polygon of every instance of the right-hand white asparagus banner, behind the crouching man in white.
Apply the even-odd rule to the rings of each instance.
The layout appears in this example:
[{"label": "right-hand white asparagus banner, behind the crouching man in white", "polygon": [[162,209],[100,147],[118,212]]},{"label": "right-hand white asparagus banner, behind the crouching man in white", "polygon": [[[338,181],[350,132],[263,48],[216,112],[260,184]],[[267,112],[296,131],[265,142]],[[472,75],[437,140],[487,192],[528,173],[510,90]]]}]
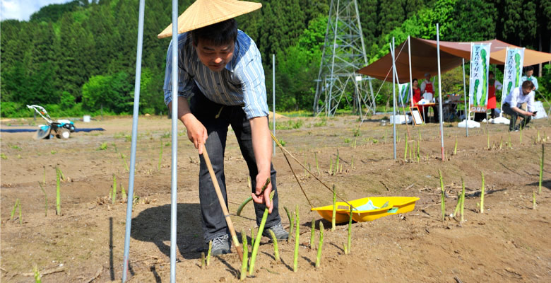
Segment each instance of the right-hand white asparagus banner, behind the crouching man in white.
[{"label": "right-hand white asparagus banner, behind the crouching man in white", "polygon": [[503,71],[502,103],[514,88],[521,86],[522,65],[524,63],[524,48],[507,47],[505,69]]}]

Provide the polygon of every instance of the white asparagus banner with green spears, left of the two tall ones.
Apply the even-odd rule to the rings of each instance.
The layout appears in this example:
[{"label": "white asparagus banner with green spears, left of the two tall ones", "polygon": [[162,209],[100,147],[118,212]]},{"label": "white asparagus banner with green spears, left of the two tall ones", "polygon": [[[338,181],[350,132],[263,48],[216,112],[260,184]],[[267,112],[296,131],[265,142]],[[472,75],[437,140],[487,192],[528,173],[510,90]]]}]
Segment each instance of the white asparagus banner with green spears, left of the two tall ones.
[{"label": "white asparagus banner with green spears, left of the two tall ones", "polygon": [[488,73],[490,72],[491,43],[470,46],[470,112],[486,112],[488,103]]}]

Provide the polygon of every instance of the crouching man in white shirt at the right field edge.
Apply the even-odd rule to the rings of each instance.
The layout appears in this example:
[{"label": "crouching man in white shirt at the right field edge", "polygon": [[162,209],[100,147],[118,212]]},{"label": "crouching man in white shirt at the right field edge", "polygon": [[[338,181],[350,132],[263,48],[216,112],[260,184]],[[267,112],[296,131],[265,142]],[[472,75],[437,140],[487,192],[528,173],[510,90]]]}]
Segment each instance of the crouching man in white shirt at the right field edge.
[{"label": "crouching man in white shirt at the right field edge", "polygon": [[[519,131],[519,126],[515,126],[516,118],[522,117],[520,127],[524,128],[530,122],[531,117],[535,116],[534,111],[534,84],[531,81],[524,81],[522,86],[514,88],[509,96],[503,101],[503,112],[511,115],[509,122],[509,132]],[[526,103],[526,110],[521,109],[521,105]]]}]

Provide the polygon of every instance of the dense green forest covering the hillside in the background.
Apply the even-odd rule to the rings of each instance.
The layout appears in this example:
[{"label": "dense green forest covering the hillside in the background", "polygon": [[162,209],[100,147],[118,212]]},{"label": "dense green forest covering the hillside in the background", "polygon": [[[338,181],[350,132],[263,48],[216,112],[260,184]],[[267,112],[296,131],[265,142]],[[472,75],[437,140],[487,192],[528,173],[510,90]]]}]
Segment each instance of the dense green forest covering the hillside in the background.
[{"label": "dense green forest covering the hillside in the background", "polygon": [[[179,13],[192,2],[179,0]],[[261,51],[268,101],[271,54],[275,54],[276,110],[312,110],[331,0],[260,2],[260,10],[236,20]],[[397,44],[408,35],[435,40],[436,23],[440,40],[497,38],[551,51],[549,0],[357,0],[357,4],[369,62],[389,51],[392,37]],[[160,40],[157,35],[170,24],[171,11],[170,0],[146,1],[141,113],[167,114],[162,83],[170,38]],[[31,116],[26,104],[43,105],[58,117],[131,113],[137,27],[138,0],[76,0],[45,6],[29,21],[2,21],[0,115]],[[443,76],[443,91],[448,91],[447,85],[462,85],[460,74],[461,69]],[[544,65],[538,81],[536,99],[550,98],[550,64]],[[374,83],[377,88],[381,84]],[[377,100],[386,102],[389,95],[391,84],[386,83]]]}]

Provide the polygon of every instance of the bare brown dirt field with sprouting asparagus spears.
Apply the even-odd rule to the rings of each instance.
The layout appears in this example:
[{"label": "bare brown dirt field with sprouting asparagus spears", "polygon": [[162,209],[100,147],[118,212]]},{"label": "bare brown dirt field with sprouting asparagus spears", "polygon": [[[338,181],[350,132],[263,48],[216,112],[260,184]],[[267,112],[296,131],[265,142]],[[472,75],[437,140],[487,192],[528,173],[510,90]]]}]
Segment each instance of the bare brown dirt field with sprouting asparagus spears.
[{"label": "bare brown dirt field with sprouting asparagus spears", "polygon": [[[261,241],[251,282],[551,282],[551,158],[545,158],[543,188],[538,190],[541,144],[551,144],[550,120],[536,120],[531,129],[511,133],[506,125],[465,129],[444,126],[446,161],[439,160],[437,124],[398,126],[397,160],[393,160],[392,127],[372,117],[355,132],[357,117],[286,118],[278,122],[298,129],[278,130],[278,139],[328,185],[335,184],[346,200],[372,196],[420,197],[413,212],[352,224],[352,251],[344,255],[347,225],[328,230],[331,223],[310,212],[307,200],[278,150],[273,163],[278,170],[280,208],[300,206],[300,256],[298,272],[292,272],[293,238],[280,243],[281,262],[273,258],[273,246]],[[290,122],[287,122],[290,121]],[[302,125],[300,122],[302,121]],[[8,125],[8,123],[10,125]],[[4,121],[3,128],[27,124]],[[32,268],[42,282],[110,282],[122,278],[126,203],[120,186],[128,190],[126,166],[130,160],[131,118],[107,119],[77,127],[103,127],[105,132],[78,132],[70,139],[35,141],[32,133],[1,134],[1,282],[34,282]],[[453,126],[453,127],[449,127]],[[23,127],[23,126],[22,126]],[[30,128],[27,126],[26,128]],[[199,210],[199,157],[180,125],[178,151],[178,282],[237,282],[240,262],[236,253],[213,258],[206,269],[199,266],[202,240]],[[404,161],[404,137],[419,141]],[[535,142],[538,131],[540,139]],[[140,117],[136,154],[135,196],[130,242],[129,282],[169,282],[170,277],[170,120]],[[355,133],[357,137],[355,137]],[[457,137],[457,154],[452,155]],[[499,149],[500,141],[503,141]],[[354,143],[356,146],[354,147]],[[162,146],[160,169],[158,161]],[[548,146],[547,146],[548,147]],[[337,151],[342,172],[328,173]],[[551,151],[551,149],[547,149]],[[121,154],[124,155],[122,158]],[[547,153],[549,156],[549,153]],[[352,167],[353,158],[353,167]],[[323,185],[292,162],[314,206],[331,204]],[[125,165],[126,163],[126,165]],[[61,182],[61,216],[55,214],[55,167]],[[235,136],[228,134],[225,156],[229,209],[237,231],[254,227],[251,204],[242,216],[235,212],[249,196],[247,166]],[[466,183],[465,219],[441,219],[438,169],[446,186],[446,214],[451,214]],[[480,172],[485,175],[485,212],[479,213]],[[45,174],[45,195],[40,189]],[[117,202],[108,199],[117,178]],[[22,219],[11,210],[20,200]],[[283,224],[289,221],[285,212]],[[324,222],[325,243],[321,267],[316,270],[316,249],[308,248],[310,222]],[[20,224],[21,220],[21,224]],[[317,242],[316,231],[316,242]]]}]

